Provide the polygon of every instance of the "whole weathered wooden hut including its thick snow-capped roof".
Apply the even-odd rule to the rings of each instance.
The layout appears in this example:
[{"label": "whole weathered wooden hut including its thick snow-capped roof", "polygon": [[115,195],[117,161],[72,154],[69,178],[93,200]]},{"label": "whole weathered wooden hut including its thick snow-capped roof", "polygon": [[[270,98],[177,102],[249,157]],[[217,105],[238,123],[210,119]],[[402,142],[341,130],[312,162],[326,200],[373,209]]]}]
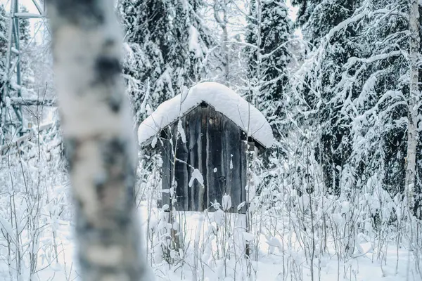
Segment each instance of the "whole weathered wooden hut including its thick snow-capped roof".
[{"label": "whole weathered wooden hut including its thick snow-capped roof", "polygon": [[269,148],[272,138],[259,110],[214,82],[167,100],[139,127],[140,145],[162,151],[162,205],[184,211],[222,204],[225,194],[231,196],[228,211],[238,211],[247,201],[246,150]]}]

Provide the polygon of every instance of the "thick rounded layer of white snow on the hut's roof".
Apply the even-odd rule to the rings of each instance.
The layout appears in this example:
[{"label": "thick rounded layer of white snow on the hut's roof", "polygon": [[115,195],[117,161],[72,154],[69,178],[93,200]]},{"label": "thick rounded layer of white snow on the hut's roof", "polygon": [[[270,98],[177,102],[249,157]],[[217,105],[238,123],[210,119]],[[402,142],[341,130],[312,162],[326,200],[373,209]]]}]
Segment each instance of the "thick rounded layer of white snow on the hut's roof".
[{"label": "thick rounded layer of white snow on the hut's roof", "polygon": [[179,117],[186,115],[202,102],[214,107],[217,112],[231,119],[264,148],[271,147],[272,129],[264,115],[233,90],[215,82],[196,84],[187,93],[181,93],[158,106],[157,110],[139,126],[139,143],[145,145],[162,129],[177,121]]}]

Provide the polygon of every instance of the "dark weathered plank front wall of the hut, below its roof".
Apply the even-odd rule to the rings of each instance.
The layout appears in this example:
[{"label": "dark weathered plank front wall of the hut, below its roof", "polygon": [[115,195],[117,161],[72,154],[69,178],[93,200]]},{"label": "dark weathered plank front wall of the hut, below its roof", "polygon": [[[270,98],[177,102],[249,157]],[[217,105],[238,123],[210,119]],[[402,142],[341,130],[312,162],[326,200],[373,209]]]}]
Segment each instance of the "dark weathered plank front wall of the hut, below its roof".
[{"label": "dark weathered plank front wall of the hut, below its roof", "polygon": [[[238,204],[246,200],[245,133],[207,105],[196,107],[182,117],[181,122],[186,143],[181,138],[176,140],[177,124],[162,131],[162,189],[169,190],[175,176],[177,210],[203,211],[211,202],[221,204],[222,196],[227,193],[232,202],[229,211],[237,212]],[[174,145],[177,145],[176,157]],[[188,186],[194,169],[203,175],[203,187],[196,180]],[[168,192],[162,193],[162,204],[170,205]],[[210,208],[210,211],[215,209]],[[245,208],[241,209],[244,211]]]}]

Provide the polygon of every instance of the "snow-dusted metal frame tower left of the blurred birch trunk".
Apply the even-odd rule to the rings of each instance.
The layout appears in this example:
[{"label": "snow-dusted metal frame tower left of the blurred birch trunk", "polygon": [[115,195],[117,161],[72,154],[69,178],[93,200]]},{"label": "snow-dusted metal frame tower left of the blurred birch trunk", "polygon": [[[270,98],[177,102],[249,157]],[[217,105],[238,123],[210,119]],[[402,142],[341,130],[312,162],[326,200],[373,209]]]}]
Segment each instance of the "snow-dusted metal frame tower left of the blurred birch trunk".
[{"label": "snow-dusted metal frame tower left of the blurred birch trunk", "polygon": [[[38,13],[20,13],[19,0],[11,0],[11,10],[8,25],[8,46],[6,51],[6,76],[3,79],[1,86],[1,119],[0,125],[3,130],[8,131],[14,128],[18,136],[23,136],[26,130],[23,126],[23,106],[31,105],[45,105],[54,106],[53,100],[35,100],[24,99],[21,93],[21,69],[20,69],[20,41],[19,41],[19,25],[20,19],[30,18],[46,18],[46,4],[40,4],[38,0],[32,0],[32,3],[37,8]],[[16,81],[12,85],[12,81]],[[15,120],[11,117],[14,112]],[[15,134],[14,133],[14,134]],[[2,140],[3,142],[4,140]]]}]

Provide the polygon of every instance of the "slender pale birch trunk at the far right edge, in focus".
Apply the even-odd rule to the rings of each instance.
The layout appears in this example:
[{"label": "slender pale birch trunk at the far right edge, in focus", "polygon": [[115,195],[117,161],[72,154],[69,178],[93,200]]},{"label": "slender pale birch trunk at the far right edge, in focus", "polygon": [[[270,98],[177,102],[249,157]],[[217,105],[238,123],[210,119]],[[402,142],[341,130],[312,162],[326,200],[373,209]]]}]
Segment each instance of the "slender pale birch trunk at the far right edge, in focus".
[{"label": "slender pale birch trunk at the far right edge, in focus", "polygon": [[414,207],[414,186],[416,174],[416,146],[418,142],[417,117],[419,104],[418,90],[418,58],[421,38],[419,36],[419,11],[418,0],[409,0],[409,58],[410,58],[410,90],[409,90],[409,113],[407,125],[407,167],[406,167],[406,196],[409,208]]}]

